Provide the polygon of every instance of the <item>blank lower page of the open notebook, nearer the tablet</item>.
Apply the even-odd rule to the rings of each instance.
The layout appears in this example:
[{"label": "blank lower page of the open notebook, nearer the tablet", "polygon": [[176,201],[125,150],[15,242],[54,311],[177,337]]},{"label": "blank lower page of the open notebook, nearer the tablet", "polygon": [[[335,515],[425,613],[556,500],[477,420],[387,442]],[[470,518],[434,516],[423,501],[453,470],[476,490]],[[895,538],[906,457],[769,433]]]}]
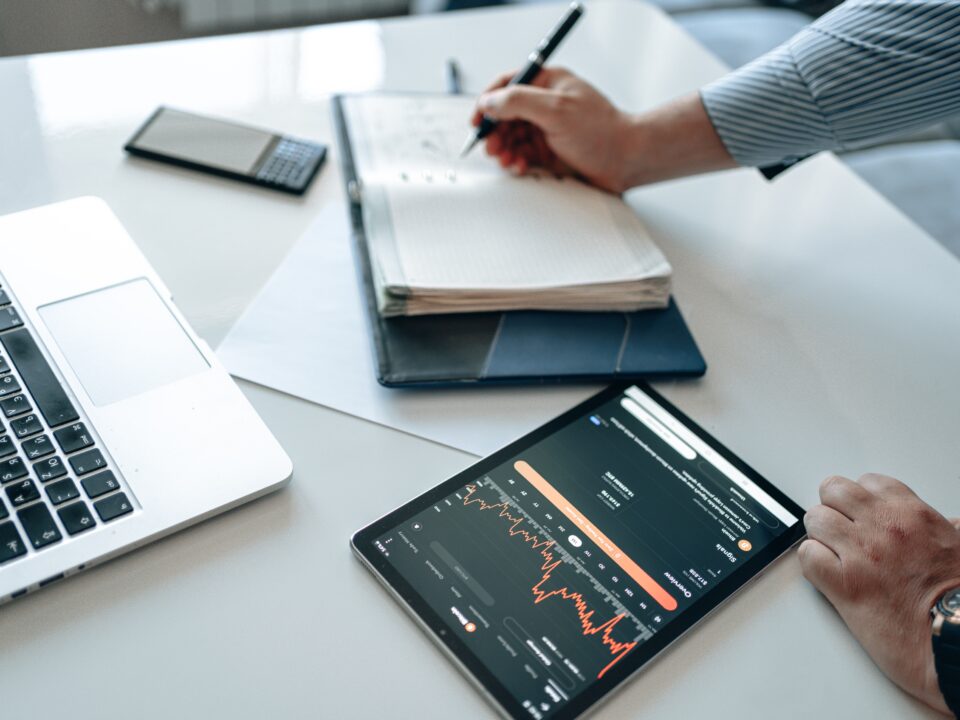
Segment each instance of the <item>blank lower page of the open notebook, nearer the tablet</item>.
[{"label": "blank lower page of the open notebook, nearer the tablet", "polygon": [[532,289],[636,280],[663,256],[632,237],[620,200],[573,180],[460,177],[387,192],[406,282],[413,288]]}]

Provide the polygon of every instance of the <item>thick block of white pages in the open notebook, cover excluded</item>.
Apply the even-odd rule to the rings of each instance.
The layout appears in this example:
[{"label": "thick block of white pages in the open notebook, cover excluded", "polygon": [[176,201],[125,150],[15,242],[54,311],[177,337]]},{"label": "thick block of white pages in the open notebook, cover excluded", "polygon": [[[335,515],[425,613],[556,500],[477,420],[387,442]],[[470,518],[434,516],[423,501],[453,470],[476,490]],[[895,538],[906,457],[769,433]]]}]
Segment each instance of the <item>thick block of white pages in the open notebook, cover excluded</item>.
[{"label": "thick block of white pages in the open notebook, cover excluded", "polygon": [[669,263],[619,198],[457,155],[473,100],[342,99],[384,316],[666,307]]}]

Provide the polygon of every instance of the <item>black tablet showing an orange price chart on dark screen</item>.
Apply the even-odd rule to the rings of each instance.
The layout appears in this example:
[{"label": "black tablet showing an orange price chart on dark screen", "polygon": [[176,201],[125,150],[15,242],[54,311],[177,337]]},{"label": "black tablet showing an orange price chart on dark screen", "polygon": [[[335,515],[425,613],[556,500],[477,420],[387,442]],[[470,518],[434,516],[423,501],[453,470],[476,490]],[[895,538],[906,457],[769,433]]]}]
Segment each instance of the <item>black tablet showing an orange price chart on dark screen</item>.
[{"label": "black tablet showing an orange price chart on dark screen", "polygon": [[571,718],[803,538],[803,510],[617,385],[352,545],[507,717]]}]

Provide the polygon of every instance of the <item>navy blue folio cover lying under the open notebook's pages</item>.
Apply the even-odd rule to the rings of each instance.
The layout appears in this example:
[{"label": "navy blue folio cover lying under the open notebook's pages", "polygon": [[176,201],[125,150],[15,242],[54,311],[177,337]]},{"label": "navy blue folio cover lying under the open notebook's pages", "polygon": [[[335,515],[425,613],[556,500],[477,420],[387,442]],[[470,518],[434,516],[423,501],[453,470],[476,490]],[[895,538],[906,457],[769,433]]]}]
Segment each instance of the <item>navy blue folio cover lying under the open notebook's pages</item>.
[{"label": "navy blue folio cover lying under the open notebook's pages", "polygon": [[465,313],[382,317],[377,312],[362,197],[340,98],[333,101],[354,250],[376,353],[389,387],[608,382],[706,372],[673,299],[664,310]]}]

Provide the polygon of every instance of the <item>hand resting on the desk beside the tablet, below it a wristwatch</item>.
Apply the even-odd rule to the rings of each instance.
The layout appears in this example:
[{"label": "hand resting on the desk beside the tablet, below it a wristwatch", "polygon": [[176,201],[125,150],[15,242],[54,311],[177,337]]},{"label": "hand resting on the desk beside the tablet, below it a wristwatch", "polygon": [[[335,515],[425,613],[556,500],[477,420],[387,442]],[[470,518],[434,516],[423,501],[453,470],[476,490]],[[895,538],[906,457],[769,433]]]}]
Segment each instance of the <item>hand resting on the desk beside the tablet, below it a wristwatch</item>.
[{"label": "hand resting on the desk beside the tablet, below it a wristwatch", "polygon": [[950,714],[937,684],[930,609],[960,585],[960,521],[885,475],[829,477],[804,516],[804,576],[897,685]]}]

